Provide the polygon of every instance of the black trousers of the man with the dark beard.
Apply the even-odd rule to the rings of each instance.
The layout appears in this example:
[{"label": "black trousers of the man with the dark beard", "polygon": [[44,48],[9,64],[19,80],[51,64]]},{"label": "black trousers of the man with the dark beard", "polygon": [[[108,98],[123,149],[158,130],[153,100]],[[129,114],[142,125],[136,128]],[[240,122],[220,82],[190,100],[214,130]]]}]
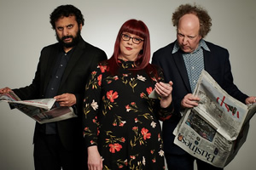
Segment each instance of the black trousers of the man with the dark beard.
[{"label": "black trousers of the man with the dark beard", "polygon": [[40,133],[34,142],[35,170],[86,170],[83,148],[67,150],[57,134]]}]

